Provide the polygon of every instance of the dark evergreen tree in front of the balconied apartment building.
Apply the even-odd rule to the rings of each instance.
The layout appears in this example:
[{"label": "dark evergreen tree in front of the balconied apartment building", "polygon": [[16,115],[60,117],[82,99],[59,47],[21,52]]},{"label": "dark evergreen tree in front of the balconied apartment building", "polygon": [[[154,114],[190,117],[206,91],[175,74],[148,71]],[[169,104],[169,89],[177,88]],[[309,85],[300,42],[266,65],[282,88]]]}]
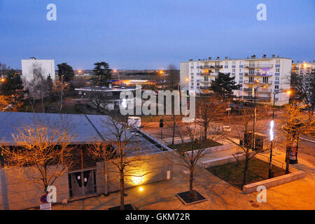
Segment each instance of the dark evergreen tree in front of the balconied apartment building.
[{"label": "dark evergreen tree in front of the balconied apartment building", "polygon": [[235,76],[230,77],[230,73],[218,73],[218,76],[211,80],[211,90],[214,91],[218,97],[224,100],[231,99],[233,97],[232,90],[239,90],[240,85],[236,84]]}]

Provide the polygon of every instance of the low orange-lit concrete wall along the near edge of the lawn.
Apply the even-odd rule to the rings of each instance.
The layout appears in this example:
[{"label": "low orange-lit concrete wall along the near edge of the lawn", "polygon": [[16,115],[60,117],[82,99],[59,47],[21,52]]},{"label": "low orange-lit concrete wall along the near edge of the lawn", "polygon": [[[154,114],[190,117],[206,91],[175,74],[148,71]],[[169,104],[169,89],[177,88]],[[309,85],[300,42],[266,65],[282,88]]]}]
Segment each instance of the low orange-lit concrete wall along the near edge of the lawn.
[{"label": "low orange-lit concrete wall along the near edge of the lawn", "polygon": [[246,194],[256,192],[258,186],[265,186],[265,188],[272,188],[274,186],[279,186],[283,183],[289,183],[291,181],[303,179],[305,175],[306,174],[304,172],[299,171],[292,174],[277,176],[272,179],[267,179],[265,181],[259,181],[256,183],[247,184],[246,186],[244,186],[243,192]]}]

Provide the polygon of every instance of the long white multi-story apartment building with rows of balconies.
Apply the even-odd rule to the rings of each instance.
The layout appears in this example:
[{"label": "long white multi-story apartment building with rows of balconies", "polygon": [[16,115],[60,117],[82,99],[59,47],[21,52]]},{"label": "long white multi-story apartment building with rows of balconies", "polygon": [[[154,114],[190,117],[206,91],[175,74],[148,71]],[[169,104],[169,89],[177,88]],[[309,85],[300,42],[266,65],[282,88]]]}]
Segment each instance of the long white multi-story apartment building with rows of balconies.
[{"label": "long white multi-story apartment building with rows of balconies", "polygon": [[291,65],[292,59],[275,55],[263,55],[260,58],[253,55],[246,59],[190,59],[189,62],[181,62],[181,90],[197,94],[209,93],[211,80],[219,72],[230,73],[230,76],[235,76],[237,84],[241,85],[240,90],[235,90],[237,97],[251,101],[253,87],[259,86],[256,90],[256,102],[272,103],[272,93],[280,92],[275,95],[275,104],[281,106],[288,104],[289,100],[284,90],[290,89]]}]

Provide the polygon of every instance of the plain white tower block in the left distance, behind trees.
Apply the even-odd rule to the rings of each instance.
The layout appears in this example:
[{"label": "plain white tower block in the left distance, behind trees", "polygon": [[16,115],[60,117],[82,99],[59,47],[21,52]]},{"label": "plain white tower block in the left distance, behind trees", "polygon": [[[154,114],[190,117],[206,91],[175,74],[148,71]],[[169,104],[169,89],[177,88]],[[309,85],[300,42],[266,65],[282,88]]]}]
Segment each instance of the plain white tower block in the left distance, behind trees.
[{"label": "plain white tower block in the left distance, behind trees", "polygon": [[34,66],[40,67],[43,78],[51,76],[52,80],[55,80],[55,61],[53,59],[22,59],[22,80],[25,82],[31,82],[34,78],[33,68]]}]

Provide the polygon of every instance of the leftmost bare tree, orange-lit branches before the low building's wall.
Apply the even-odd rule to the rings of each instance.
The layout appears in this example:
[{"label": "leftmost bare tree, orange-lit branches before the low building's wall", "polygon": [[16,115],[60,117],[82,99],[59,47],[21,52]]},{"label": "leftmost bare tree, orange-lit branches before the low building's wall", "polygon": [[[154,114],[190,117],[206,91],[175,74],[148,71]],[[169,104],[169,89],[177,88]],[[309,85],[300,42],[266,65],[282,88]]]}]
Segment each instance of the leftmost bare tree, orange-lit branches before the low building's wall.
[{"label": "leftmost bare tree, orange-lit branches before the low building's wall", "polygon": [[[56,123],[34,116],[32,122],[17,130],[18,133],[13,136],[15,146],[0,146],[3,168],[21,181],[39,186],[46,193],[47,187],[71,166],[70,144],[73,136],[67,133],[69,121]],[[23,172],[27,167],[30,172],[25,177]]]}]

